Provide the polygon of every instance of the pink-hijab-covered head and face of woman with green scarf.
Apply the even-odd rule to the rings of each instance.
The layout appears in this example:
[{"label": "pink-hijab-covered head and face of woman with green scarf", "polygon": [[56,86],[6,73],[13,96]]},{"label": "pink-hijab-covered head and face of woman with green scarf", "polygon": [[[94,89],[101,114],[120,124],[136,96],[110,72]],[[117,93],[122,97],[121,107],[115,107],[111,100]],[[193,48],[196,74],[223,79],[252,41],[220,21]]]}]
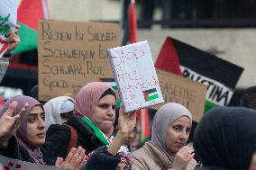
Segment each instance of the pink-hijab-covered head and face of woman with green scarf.
[{"label": "pink-hijab-covered head and face of woman with green scarf", "polygon": [[115,102],[114,89],[109,85],[101,82],[89,83],[77,94],[74,113],[85,122],[90,120],[95,123],[109,138],[114,131]]}]

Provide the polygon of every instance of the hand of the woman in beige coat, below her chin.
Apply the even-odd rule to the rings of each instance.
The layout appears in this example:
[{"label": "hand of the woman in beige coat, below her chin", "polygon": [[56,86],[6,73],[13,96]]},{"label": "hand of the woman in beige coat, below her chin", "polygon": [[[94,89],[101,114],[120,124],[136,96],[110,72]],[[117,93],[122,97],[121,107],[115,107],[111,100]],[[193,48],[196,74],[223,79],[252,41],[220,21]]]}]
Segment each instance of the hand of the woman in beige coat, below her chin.
[{"label": "hand of the woman in beige coat, below her chin", "polygon": [[180,148],[173,160],[173,170],[185,170],[189,161],[195,156],[194,148],[185,146]]}]

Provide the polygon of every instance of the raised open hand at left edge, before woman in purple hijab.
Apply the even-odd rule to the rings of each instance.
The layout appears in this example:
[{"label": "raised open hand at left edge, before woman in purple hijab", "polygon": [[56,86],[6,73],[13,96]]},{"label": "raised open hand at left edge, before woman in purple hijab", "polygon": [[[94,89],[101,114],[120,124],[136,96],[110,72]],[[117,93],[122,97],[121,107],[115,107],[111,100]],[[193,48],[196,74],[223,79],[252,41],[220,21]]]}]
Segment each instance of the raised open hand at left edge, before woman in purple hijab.
[{"label": "raised open hand at left edge, before woman in purple hijab", "polygon": [[23,109],[19,114],[13,116],[17,104],[16,101],[11,103],[9,108],[0,118],[0,148],[8,147],[9,139],[16,133],[23,121],[28,103],[24,104]]}]

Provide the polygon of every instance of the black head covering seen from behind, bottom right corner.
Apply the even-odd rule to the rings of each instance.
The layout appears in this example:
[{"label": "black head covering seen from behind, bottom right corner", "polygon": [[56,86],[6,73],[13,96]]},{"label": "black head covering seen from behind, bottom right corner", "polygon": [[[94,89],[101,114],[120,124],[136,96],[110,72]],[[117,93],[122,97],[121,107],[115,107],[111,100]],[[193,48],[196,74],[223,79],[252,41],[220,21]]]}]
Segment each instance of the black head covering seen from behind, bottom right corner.
[{"label": "black head covering seen from behind, bottom right corner", "polygon": [[197,125],[193,144],[202,170],[251,170],[256,112],[242,107],[212,109]]}]

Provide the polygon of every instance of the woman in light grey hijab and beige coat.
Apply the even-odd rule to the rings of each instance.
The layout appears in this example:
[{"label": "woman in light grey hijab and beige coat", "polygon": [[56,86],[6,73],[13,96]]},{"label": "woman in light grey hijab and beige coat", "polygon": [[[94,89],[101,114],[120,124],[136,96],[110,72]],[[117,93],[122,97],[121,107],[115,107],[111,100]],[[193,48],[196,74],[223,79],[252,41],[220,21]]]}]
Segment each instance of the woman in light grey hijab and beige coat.
[{"label": "woman in light grey hijab and beige coat", "polygon": [[191,125],[192,115],[184,106],[163,105],[155,114],[151,141],[132,154],[132,169],[194,169],[194,148],[186,146]]}]

